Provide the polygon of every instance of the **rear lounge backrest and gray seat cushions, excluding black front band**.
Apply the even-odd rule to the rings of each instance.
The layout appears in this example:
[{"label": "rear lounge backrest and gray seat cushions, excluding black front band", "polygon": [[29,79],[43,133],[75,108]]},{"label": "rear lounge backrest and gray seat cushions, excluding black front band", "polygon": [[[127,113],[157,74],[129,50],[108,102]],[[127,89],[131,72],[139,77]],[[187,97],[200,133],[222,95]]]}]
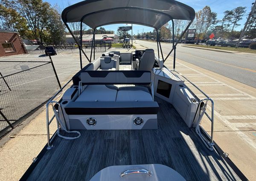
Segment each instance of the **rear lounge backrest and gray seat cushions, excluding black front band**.
[{"label": "rear lounge backrest and gray seat cushions, excluding black front band", "polygon": [[[124,74],[125,73],[125,74]],[[81,73],[84,91],[76,99],[81,101],[153,101],[148,88],[143,86],[119,87],[108,84],[149,84],[149,71],[86,71]],[[127,76],[127,77],[126,77]],[[112,81],[112,82],[110,82]],[[89,85],[88,85],[89,84]],[[107,84],[107,85],[95,85]]]}]

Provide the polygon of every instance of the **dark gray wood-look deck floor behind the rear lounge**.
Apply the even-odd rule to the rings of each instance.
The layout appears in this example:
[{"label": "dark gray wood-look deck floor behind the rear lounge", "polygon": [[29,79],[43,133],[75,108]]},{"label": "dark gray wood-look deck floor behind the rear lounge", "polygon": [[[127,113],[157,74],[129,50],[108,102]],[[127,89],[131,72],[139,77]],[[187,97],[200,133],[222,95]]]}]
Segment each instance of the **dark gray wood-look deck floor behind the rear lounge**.
[{"label": "dark gray wood-look deck floor behind the rear lounge", "polygon": [[163,164],[187,181],[240,180],[170,103],[156,100],[157,130],[84,130],[76,140],[57,137],[28,180],[89,181],[105,167],[135,164]]}]

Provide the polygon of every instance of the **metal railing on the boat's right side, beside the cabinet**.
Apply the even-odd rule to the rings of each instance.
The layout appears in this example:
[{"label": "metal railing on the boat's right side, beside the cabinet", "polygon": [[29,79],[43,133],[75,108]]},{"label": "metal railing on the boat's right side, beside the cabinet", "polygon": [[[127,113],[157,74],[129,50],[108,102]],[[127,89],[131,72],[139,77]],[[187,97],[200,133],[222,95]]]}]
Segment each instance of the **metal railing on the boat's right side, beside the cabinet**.
[{"label": "metal railing on the boat's right side, beside the cabinet", "polygon": [[[174,70],[174,72],[177,72],[176,70]],[[196,110],[196,113],[195,113],[195,118],[193,120],[193,124],[195,123],[195,119],[196,119],[196,115],[199,115],[199,118],[198,118],[198,124],[197,126],[195,127],[196,129],[196,133],[200,136],[201,140],[204,142],[204,144],[207,146],[208,149],[210,150],[213,150],[213,146],[214,146],[214,142],[213,142],[213,136],[214,136],[214,102],[211,98],[209,98],[209,96],[204,92],[202,91],[198,86],[196,86],[194,83],[192,83],[188,78],[186,78],[185,76],[181,75],[179,72],[177,72],[178,75],[182,76],[183,78],[185,78],[192,86],[194,86],[196,89],[198,89],[198,91],[200,91],[206,98],[204,99],[200,99],[198,98],[197,95],[195,95],[194,92],[192,92],[191,89],[189,89],[189,87],[185,84],[186,88],[189,90],[189,92],[197,99],[197,101],[199,102],[198,103],[198,107],[197,107],[197,110]],[[176,76],[178,76],[176,75]],[[179,76],[178,76],[179,77]],[[211,114],[209,115],[206,110],[203,110],[206,109],[206,106],[207,106],[207,102],[210,101],[211,102]],[[204,103],[204,106],[201,106],[202,103]],[[202,115],[200,114],[200,112],[202,113]],[[200,117],[201,115],[201,117]],[[209,121],[211,121],[211,134],[209,135],[205,130],[204,128],[200,125],[201,123],[201,119],[203,117],[203,115],[206,115],[207,118],[209,119]],[[203,132],[204,136],[201,134],[201,131]]]}]

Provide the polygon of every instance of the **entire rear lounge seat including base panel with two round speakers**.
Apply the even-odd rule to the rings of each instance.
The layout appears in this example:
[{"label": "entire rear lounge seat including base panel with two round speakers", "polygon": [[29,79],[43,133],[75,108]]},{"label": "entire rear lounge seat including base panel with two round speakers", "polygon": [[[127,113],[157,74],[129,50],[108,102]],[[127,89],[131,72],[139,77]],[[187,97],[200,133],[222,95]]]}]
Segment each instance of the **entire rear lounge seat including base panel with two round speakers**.
[{"label": "entire rear lounge seat including base panel with two round speakers", "polygon": [[[70,130],[157,129],[159,106],[153,101],[147,88],[133,86],[118,89],[113,86],[113,84],[149,85],[150,83],[150,71],[81,72],[79,89],[82,85],[83,91],[80,96],[61,102],[67,118],[67,128]],[[88,124],[88,118],[93,118],[95,124],[92,126]]]}]

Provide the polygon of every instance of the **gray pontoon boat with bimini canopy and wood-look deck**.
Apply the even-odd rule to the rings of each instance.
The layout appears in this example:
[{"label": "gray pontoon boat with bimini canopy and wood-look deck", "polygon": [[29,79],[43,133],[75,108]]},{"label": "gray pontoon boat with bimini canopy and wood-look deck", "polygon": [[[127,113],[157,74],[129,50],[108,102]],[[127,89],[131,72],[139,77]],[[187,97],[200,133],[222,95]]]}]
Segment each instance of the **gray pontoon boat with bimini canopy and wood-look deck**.
[{"label": "gray pontoon boat with bimini canopy and wood-look deck", "polygon": [[[179,40],[163,57],[160,27],[171,21],[174,40],[174,19],[188,20],[181,39],[194,18],[194,9],[175,0],[85,0],[64,9],[70,33],[67,23],[85,23],[94,29],[94,43],[90,58],[79,46],[81,70],[71,87],[61,89],[66,91],[60,100],[55,98],[61,91],[47,103],[48,143],[21,180],[245,180],[213,141],[212,99],[198,89],[206,96],[199,99],[175,71]],[[116,49],[95,57],[95,29],[115,23],[154,28],[157,52]],[[170,70],[164,63],[172,52]],[[82,54],[89,61],[84,67]],[[211,121],[210,134],[200,126],[204,115]],[[50,138],[54,119],[57,131]]]}]

